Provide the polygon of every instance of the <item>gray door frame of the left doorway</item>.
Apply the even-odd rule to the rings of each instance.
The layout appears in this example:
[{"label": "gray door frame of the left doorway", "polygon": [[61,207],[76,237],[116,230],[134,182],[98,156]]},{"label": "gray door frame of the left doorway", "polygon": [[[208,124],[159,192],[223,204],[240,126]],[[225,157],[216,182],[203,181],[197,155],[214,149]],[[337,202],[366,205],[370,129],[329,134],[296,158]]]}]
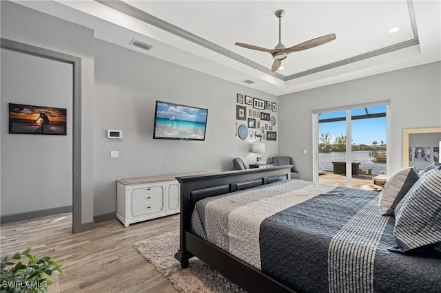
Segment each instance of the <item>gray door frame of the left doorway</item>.
[{"label": "gray door frame of the left doorway", "polygon": [[72,233],[90,230],[81,224],[81,58],[3,38],[0,47],[72,65]]}]

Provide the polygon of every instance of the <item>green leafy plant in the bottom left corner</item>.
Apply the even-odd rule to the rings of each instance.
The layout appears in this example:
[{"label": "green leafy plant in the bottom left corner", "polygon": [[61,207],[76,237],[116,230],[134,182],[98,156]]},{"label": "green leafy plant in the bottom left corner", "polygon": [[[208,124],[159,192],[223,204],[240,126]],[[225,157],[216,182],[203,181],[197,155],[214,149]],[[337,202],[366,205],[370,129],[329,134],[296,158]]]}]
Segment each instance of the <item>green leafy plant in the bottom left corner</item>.
[{"label": "green leafy plant in the bottom left corner", "polygon": [[[32,247],[23,252],[16,252],[12,257],[1,256],[0,292],[47,292],[53,283],[47,276],[64,274],[63,263],[57,263],[52,257],[37,259],[31,254]],[[28,260],[28,264],[23,263]]]}]

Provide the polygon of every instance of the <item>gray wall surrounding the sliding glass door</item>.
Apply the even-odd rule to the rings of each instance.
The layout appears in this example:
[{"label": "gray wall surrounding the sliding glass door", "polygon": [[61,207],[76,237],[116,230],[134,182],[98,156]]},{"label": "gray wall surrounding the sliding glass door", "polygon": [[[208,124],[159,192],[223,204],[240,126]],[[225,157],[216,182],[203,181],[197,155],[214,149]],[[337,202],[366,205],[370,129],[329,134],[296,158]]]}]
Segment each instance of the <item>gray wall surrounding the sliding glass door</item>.
[{"label": "gray wall surrounding the sliding glass door", "polygon": [[279,96],[278,153],[294,157],[304,179],[312,180],[312,111],[390,100],[393,173],[402,165],[402,129],[440,127],[440,80],[437,62]]}]

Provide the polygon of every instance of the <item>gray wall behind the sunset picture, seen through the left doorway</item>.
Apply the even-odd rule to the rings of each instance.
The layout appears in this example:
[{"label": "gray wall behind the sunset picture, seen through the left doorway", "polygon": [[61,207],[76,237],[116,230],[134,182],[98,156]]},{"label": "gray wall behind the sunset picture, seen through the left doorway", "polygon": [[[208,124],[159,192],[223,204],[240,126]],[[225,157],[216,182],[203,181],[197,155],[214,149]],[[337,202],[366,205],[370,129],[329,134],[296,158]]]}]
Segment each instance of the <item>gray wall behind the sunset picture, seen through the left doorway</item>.
[{"label": "gray wall behind the sunset picture, seen through the left doorway", "polygon": [[8,103],[72,119],[72,96],[72,65],[1,49],[2,216],[72,206],[72,121],[67,135],[8,133]]}]

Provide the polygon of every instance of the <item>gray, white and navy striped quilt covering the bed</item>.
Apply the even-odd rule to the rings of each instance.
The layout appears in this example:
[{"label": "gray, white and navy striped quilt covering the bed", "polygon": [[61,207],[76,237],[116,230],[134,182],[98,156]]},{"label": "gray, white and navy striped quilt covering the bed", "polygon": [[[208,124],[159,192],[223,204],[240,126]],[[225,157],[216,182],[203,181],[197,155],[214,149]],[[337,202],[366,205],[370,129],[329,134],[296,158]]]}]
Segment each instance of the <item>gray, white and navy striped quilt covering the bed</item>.
[{"label": "gray, white and navy striped quilt covering the bed", "polygon": [[193,232],[296,292],[441,292],[441,256],[389,252],[378,193],[285,180],[196,203]]}]

